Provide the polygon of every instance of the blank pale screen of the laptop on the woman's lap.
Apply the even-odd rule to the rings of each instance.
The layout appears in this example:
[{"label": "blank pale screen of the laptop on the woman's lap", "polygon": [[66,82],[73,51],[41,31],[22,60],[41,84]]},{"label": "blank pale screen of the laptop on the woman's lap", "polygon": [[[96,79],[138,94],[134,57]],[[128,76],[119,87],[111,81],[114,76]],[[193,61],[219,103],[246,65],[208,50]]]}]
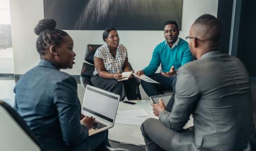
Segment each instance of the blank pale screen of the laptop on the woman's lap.
[{"label": "blank pale screen of the laptop on the woman's lap", "polygon": [[82,110],[113,122],[118,101],[117,95],[89,86],[84,94]]}]

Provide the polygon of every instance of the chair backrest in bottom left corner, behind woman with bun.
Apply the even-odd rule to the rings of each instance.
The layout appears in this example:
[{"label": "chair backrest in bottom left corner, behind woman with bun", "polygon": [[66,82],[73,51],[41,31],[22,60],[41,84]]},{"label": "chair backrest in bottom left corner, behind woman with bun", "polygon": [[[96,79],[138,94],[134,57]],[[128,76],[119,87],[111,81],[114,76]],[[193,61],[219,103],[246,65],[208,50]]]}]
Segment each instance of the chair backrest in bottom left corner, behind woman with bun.
[{"label": "chair backrest in bottom left corner, behind woman with bun", "polygon": [[0,100],[0,150],[42,150],[26,122]]}]

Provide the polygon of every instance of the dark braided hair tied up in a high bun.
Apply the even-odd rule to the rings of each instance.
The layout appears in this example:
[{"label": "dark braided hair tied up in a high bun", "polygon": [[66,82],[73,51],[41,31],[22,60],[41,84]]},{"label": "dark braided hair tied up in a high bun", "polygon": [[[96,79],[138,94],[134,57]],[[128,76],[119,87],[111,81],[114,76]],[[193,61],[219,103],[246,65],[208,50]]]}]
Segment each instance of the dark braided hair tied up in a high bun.
[{"label": "dark braided hair tied up in a high bun", "polygon": [[51,45],[60,46],[63,36],[67,36],[65,31],[55,29],[56,21],[53,19],[42,19],[34,28],[34,32],[38,35],[36,40],[36,49],[40,56],[45,55],[45,50],[49,49]]}]

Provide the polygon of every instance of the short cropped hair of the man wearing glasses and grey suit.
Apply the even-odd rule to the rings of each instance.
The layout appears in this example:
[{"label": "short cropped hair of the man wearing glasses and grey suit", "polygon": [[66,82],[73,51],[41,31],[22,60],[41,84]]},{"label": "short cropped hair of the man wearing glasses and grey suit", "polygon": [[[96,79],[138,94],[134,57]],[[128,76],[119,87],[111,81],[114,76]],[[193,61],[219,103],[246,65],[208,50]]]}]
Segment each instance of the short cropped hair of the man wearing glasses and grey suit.
[{"label": "short cropped hair of the man wearing glasses and grey suit", "polygon": [[194,33],[202,37],[202,40],[220,41],[221,39],[221,21],[213,15],[201,15],[195,20],[193,28]]}]

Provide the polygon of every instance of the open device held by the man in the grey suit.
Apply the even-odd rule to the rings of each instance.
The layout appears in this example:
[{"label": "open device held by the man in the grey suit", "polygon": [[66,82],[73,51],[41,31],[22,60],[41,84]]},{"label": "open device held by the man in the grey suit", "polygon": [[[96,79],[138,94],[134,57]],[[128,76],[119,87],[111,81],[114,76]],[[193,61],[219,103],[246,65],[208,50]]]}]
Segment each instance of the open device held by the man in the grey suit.
[{"label": "open device held by the man in the grey suit", "polygon": [[174,105],[174,94],[163,94],[163,95],[155,95],[151,96],[150,99],[153,103],[159,103],[159,99],[163,100],[164,105],[166,106],[166,111],[172,111]]}]

